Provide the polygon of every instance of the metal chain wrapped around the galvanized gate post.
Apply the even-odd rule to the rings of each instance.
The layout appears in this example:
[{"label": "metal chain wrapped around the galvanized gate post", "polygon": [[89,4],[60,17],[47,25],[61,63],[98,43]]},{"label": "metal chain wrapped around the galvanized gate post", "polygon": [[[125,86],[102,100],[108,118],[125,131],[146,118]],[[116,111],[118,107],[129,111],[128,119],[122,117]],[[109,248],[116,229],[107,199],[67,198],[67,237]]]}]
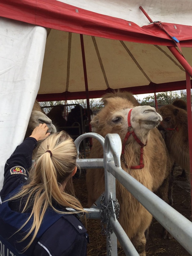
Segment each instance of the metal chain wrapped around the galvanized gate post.
[{"label": "metal chain wrapped around the galvanized gate post", "polygon": [[[101,195],[101,208],[100,208],[100,215],[101,215],[101,234],[107,235],[107,242],[108,242],[108,252],[109,256],[111,256],[111,240],[110,234],[113,233],[112,228],[110,227],[109,217],[113,214],[116,219],[119,219],[119,203],[116,199],[112,199],[112,194],[110,193],[111,199],[109,199],[108,205],[105,205],[105,195]],[[104,218],[105,215],[105,218]],[[104,224],[106,226],[104,227]]]}]

